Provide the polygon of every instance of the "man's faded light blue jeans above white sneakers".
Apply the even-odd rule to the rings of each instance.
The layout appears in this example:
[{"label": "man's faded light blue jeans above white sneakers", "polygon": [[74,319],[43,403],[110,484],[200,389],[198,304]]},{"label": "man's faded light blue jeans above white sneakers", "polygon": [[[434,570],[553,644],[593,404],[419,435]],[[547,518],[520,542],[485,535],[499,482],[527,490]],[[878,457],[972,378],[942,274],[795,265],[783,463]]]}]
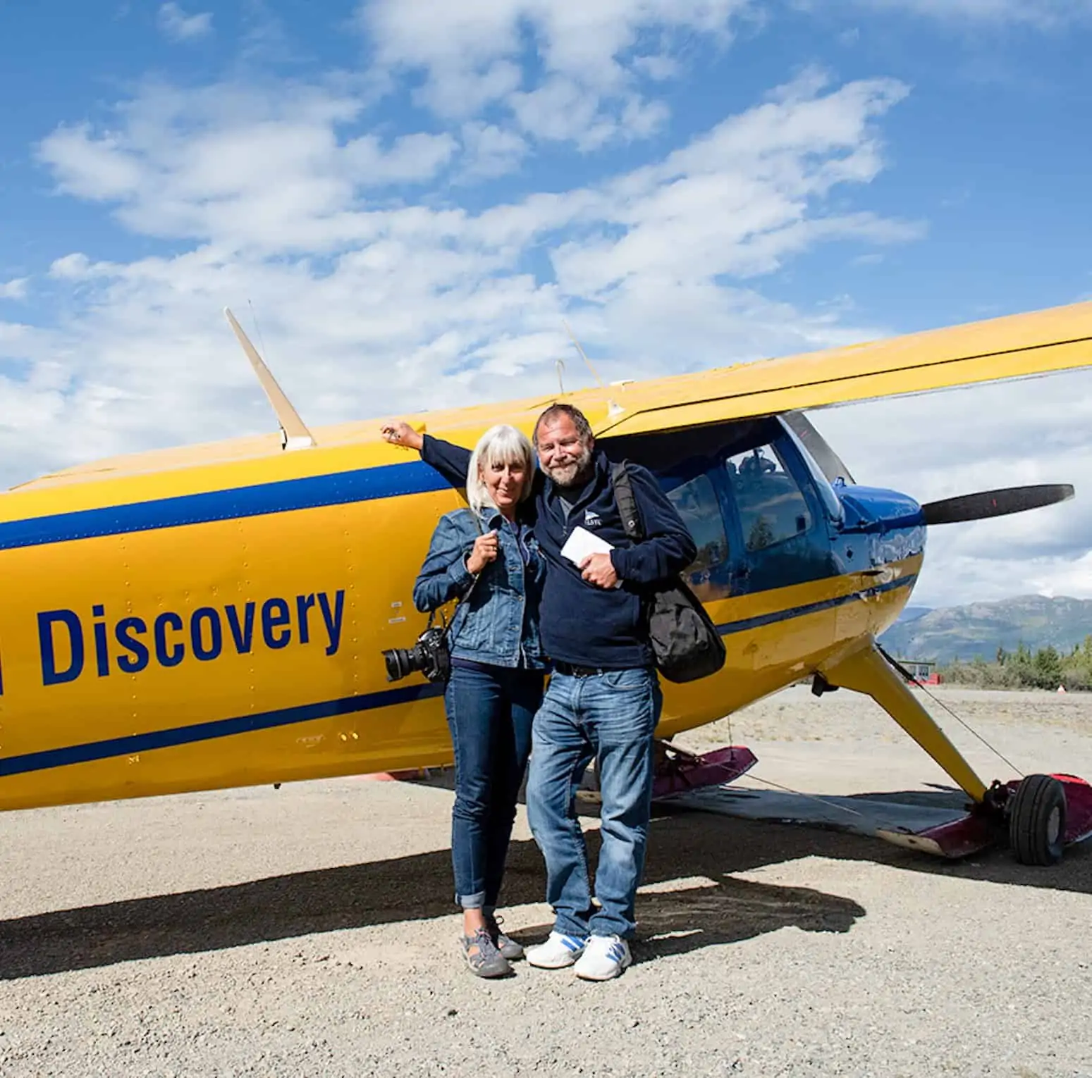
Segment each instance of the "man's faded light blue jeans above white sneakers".
[{"label": "man's faded light blue jeans above white sneakers", "polygon": [[[554,907],[557,932],[580,937],[633,934],[652,808],[652,735],[662,703],[654,670],[550,678],[535,717],[527,815],[546,860],[546,900]],[[603,796],[597,911],[574,802],[592,756]]]}]

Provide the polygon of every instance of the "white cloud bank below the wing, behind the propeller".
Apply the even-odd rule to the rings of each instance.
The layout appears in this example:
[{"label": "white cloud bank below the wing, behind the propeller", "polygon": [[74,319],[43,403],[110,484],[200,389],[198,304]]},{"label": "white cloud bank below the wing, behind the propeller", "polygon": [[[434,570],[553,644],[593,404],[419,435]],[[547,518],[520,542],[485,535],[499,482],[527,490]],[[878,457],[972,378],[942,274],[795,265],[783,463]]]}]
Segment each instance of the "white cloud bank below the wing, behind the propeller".
[{"label": "white cloud bank below the wing, behind the propeller", "polygon": [[[1092,371],[833,408],[812,416],[857,482],[921,502],[1071,482],[1069,502],[929,529],[915,601],[1092,598]],[[1080,566],[1084,566],[1081,568]]]}]

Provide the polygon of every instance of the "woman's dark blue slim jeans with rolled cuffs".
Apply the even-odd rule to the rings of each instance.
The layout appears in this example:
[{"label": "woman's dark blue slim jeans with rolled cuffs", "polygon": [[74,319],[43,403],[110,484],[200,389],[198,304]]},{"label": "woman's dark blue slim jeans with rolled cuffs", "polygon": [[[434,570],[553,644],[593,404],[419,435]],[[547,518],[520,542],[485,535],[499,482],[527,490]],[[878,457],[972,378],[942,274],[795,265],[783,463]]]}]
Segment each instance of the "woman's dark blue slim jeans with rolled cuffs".
[{"label": "woman's dark blue slim jeans with rolled cuffs", "polygon": [[497,906],[543,681],[541,671],[506,667],[451,671],[443,695],[455,751],[451,862],[464,910]]}]

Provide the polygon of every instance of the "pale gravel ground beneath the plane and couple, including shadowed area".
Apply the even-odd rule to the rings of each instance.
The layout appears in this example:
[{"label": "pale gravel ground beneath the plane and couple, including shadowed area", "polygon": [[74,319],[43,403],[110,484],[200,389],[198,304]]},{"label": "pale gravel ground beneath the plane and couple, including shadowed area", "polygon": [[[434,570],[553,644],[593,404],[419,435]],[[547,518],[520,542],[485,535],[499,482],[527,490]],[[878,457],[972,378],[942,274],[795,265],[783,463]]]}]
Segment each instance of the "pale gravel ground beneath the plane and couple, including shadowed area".
[{"label": "pale gravel ground beneath the plane and couple, including shadowed area", "polygon": [[[1092,699],[938,695],[1024,769],[1092,777]],[[850,693],[791,690],[731,727],[759,784],[946,783]],[[1092,1076],[1092,848],[952,865],[664,812],[624,978],[483,982],[456,951],[449,812],[441,789],[353,779],[0,816],[0,1075]],[[507,926],[541,937],[522,815],[507,886]]]}]

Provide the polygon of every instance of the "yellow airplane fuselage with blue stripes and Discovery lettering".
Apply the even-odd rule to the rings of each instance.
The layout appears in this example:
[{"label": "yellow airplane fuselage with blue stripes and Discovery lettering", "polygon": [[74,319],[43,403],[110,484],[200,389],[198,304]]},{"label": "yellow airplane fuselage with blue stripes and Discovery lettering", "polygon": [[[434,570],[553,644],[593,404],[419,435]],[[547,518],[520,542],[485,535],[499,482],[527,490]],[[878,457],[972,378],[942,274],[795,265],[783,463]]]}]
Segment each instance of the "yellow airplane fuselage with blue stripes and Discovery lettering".
[{"label": "yellow airplane fuselage with blue stripes and Discovery lettering", "polygon": [[[905,604],[917,504],[832,487],[780,419],[602,444],[661,477],[727,645],[715,676],[665,683],[662,736],[806,676]],[[0,808],[450,763],[440,687],[388,683],[381,651],[424,627],[413,583],[460,504],[363,428],[305,452],[213,446],[9,492]]]}]

